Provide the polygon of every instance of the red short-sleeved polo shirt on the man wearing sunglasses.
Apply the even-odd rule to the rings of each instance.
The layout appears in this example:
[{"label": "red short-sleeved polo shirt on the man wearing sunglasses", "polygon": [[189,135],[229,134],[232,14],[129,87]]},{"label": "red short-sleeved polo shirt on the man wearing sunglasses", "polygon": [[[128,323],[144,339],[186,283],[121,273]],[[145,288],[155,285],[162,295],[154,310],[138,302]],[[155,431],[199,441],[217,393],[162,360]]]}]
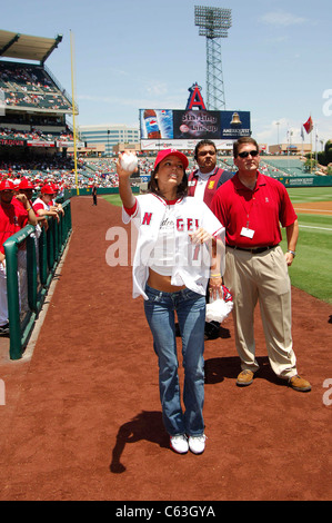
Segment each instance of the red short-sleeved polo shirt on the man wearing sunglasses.
[{"label": "red short-sleeved polo shirt on the man wearing sunglasses", "polygon": [[[225,227],[227,245],[242,248],[278,245],[280,224],[288,227],[298,218],[285,187],[261,172],[253,190],[234,175],[215,193],[211,210]],[[243,235],[243,227],[254,231],[252,238]]]}]

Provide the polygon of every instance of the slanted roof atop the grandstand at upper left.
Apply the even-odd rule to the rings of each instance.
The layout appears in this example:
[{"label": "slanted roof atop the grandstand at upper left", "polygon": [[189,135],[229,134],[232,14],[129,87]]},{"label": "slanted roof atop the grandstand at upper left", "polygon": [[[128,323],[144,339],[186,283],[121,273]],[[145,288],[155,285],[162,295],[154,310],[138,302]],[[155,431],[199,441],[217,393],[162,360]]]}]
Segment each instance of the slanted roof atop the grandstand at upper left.
[{"label": "slanted roof atop the grandstand at upper left", "polygon": [[61,41],[62,34],[42,38],[0,30],[0,58],[37,60],[42,65]]}]

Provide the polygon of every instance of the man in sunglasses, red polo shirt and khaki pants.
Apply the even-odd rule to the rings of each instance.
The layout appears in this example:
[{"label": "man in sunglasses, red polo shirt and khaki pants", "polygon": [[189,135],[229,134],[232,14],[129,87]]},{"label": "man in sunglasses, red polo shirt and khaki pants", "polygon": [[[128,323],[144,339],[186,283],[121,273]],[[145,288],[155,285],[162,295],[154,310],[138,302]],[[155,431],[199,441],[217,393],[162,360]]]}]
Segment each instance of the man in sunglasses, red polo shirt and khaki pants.
[{"label": "man in sunglasses, red polo shirt and khaki pants", "polygon": [[[285,187],[262,175],[259,146],[253,138],[233,145],[238,172],[212,200],[212,211],[225,227],[224,284],[233,295],[235,344],[242,372],[239,386],[250,385],[259,365],[253,333],[260,300],[269,361],[274,373],[295,391],[311,385],[298,375],[291,334],[291,283],[288,274],[295,256],[298,217]],[[279,246],[285,227],[288,250]]]}]

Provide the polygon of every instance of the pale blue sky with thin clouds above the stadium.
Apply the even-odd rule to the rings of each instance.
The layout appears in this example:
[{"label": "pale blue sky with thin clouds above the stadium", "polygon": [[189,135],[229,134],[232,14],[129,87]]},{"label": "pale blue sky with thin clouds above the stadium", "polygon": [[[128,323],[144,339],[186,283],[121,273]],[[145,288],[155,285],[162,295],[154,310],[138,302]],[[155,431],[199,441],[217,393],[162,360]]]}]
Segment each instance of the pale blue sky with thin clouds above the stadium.
[{"label": "pale blue sky with thin clouds above the stadium", "polygon": [[[251,112],[260,144],[321,150],[332,139],[331,0],[16,0],[0,29],[62,42],[46,65],[79,106],[76,125],[139,127],[139,109],[184,109],[188,89],[207,103],[207,40],[194,7],[232,10],[221,39],[227,110]],[[72,76],[73,71],[73,76]],[[72,89],[72,78],[73,89]]]}]

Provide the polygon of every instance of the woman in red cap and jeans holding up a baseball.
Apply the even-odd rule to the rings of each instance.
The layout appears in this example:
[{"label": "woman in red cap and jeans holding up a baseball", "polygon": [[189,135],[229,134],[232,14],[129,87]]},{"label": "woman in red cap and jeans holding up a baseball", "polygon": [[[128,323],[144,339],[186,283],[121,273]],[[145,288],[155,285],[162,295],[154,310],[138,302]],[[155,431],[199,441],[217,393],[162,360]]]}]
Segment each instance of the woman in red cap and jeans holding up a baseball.
[{"label": "woman in red cap and jeans holding up a baseball", "polygon": [[[144,298],[144,312],[159,361],[162,417],[171,448],[201,454],[205,446],[204,323],[205,288],[221,285],[224,228],[203,203],[187,197],[188,158],[175,149],[158,154],[149,193],[134,197],[132,171],[117,170],[123,221],[138,227],[133,259],[133,297]],[[184,368],[181,407],[175,315],[182,337]]]}]

